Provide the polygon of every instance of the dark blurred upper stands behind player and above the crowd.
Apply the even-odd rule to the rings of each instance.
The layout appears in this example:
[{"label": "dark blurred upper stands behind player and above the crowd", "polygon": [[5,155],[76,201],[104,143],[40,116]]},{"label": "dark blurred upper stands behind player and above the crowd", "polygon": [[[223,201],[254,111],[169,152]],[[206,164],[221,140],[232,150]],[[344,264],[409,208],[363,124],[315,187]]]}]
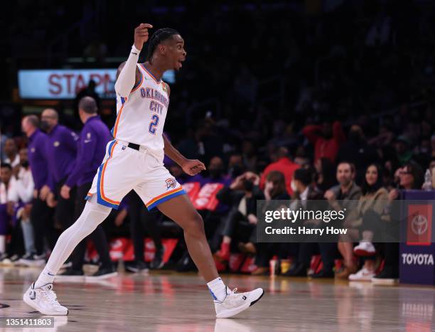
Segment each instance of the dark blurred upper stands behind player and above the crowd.
[{"label": "dark blurred upper stands behind player and above the crowd", "polygon": [[[301,129],[335,120],[346,134],[358,124],[367,140],[404,134],[416,153],[426,151],[424,164],[434,153],[434,1],[21,0],[0,15],[6,136],[20,134],[23,114],[48,106],[80,129],[74,100],[21,99],[18,70],[117,68],[134,27],[149,22],[186,40],[166,132],[190,157],[201,154],[195,142],[208,162],[249,141],[255,171],[283,145],[312,160]],[[114,99],[100,109],[112,127]]]}]

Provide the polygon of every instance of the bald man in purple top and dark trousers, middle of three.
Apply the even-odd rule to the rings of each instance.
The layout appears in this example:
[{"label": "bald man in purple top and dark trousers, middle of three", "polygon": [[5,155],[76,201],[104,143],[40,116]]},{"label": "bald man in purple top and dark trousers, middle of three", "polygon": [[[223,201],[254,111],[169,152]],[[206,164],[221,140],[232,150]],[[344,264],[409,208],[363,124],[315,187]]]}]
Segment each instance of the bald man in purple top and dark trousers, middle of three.
[{"label": "bald man in purple top and dark trousers, middle of three", "polygon": [[[59,115],[54,109],[44,109],[41,115],[41,128],[47,132],[46,156],[48,171],[53,175],[53,186],[45,185],[41,192],[47,193],[48,205],[55,206],[55,222],[65,230],[73,223],[75,188],[68,196],[60,190],[75,167],[78,136],[67,127],[58,124]],[[64,188],[65,191],[65,188]],[[67,198],[65,198],[67,197]]]}]

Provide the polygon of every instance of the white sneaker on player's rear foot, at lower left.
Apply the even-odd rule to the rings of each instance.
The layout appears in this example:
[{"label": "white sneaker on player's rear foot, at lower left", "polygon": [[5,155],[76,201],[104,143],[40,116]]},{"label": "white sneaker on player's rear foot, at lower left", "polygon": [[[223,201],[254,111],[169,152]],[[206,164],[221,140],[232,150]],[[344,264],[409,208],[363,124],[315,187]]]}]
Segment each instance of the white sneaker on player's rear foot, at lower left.
[{"label": "white sneaker on player's rear foot, at lower left", "polygon": [[68,315],[68,308],[61,306],[58,302],[53,284],[45,284],[43,287],[35,288],[35,283],[24,293],[23,301],[41,314],[50,316]]}]

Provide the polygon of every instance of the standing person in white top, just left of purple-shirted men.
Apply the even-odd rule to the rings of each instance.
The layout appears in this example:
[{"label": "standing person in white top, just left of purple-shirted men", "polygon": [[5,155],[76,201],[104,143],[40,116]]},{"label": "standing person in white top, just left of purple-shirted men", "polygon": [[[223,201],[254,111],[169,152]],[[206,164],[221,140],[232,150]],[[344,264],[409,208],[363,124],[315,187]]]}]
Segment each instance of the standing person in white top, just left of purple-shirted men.
[{"label": "standing person in white top, just left of purple-shirted men", "polygon": [[[31,259],[36,254],[33,225],[30,220],[35,185],[28,166],[27,149],[21,149],[19,154],[20,168],[18,173],[11,177],[8,191],[8,201],[14,205],[13,219],[15,221],[8,262],[18,261],[23,264],[26,259]],[[21,238],[23,238],[24,243]],[[5,260],[3,263],[5,263]]]}]

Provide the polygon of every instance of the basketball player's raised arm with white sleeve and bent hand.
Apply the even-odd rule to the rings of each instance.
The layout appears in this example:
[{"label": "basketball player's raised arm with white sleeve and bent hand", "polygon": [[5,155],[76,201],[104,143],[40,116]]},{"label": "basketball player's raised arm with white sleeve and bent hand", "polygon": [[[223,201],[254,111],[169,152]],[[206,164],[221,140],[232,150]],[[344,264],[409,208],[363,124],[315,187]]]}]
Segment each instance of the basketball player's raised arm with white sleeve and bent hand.
[{"label": "basketball player's raised arm with white sleeve and bent hand", "polygon": [[115,82],[115,92],[121,97],[128,97],[131,90],[140,80],[137,61],[144,43],[148,41],[148,29],[152,28],[151,24],[141,23],[134,29],[134,45],[131,46],[131,52],[127,61],[119,65],[117,71],[117,82]]}]

